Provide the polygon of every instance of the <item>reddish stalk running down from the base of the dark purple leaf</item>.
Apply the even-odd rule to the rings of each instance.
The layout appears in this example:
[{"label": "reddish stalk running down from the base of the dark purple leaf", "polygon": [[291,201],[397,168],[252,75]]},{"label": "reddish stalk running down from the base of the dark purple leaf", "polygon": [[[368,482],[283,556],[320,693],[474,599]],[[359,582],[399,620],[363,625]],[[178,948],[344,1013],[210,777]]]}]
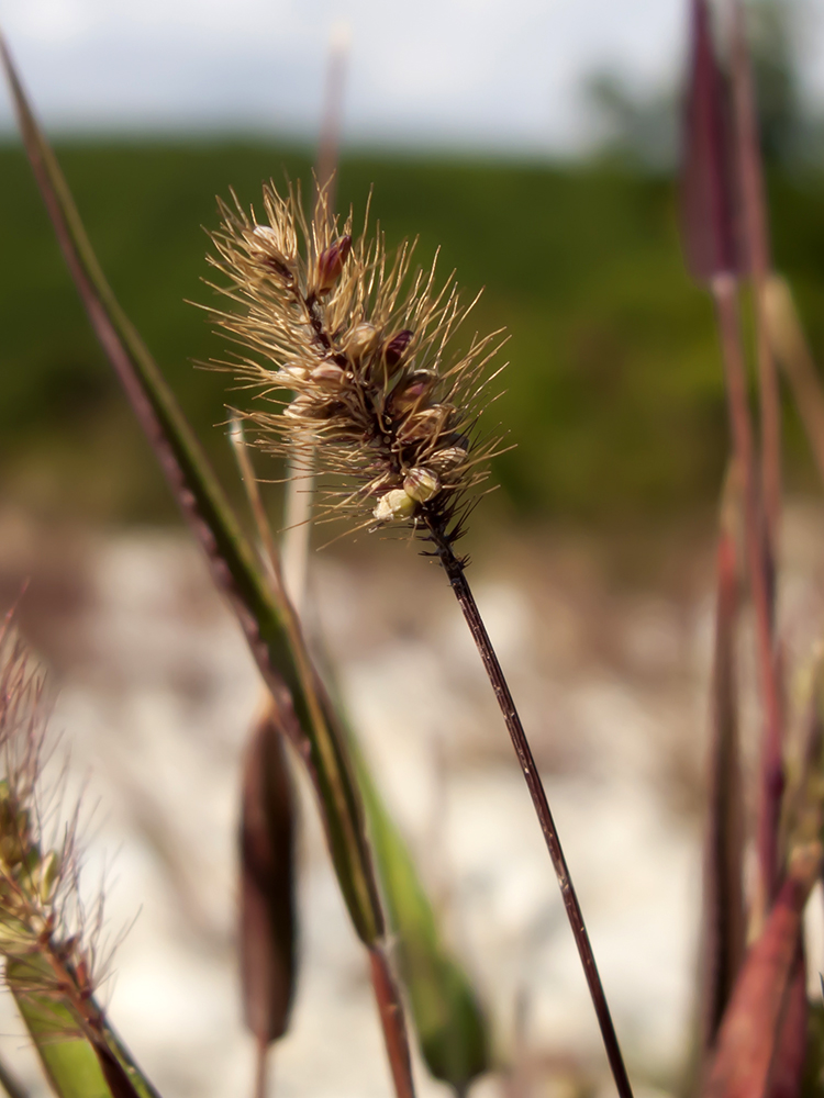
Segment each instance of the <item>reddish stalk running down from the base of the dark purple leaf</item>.
[{"label": "reddish stalk running down from the base of the dark purple leaf", "polygon": [[715,299],[726,373],[733,449],[744,478],[745,541],[749,586],[755,609],[756,645],[761,704],[764,706],[765,725],[756,834],[760,870],[760,895],[757,909],[764,915],[778,884],[778,830],[784,785],[781,757],[781,694],[772,645],[770,583],[760,527],[758,475],[747,403],[746,369],[741,339],[735,278],[732,274],[716,276],[712,280],[712,292]]}]

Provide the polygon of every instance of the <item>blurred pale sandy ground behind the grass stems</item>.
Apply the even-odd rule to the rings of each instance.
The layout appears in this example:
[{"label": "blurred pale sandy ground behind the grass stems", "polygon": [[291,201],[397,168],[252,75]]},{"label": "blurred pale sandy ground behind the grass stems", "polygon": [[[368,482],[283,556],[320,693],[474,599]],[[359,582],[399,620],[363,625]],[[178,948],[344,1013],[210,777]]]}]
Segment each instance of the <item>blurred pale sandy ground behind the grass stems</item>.
[{"label": "blurred pale sandy ground behind the grass stems", "polygon": [[[21,619],[55,669],[53,727],[91,815],[86,887],[93,895],[104,876],[111,938],[131,923],[101,995],[165,1098],[249,1095],[234,843],[255,669],[185,535],[46,533],[2,516],[2,591],[8,600],[31,573]],[[659,549],[648,578],[636,562],[616,585],[597,544],[535,536],[485,550],[470,573],[642,1094],[678,1085],[697,971],[712,554],[704,544],[689,557],[673,549],[673,560],[679,551],[688,569],[661,569]],[[790,511],[784,558],[782,619],[799,662],[824,609],[824,508]],[[313,564],[368,755],[489,1007],[501,1065],[521,1065],[514,1089],[501,1071],[472,1095],[608,1094],[548,858],[443,576],[403,545]],[[272,1094],[388,1096],[364,956],[303,793],[302,967]],[[5,999],[0,1029],[35,1088]],[[420,1065],[417,1077],[421,1095],[447,1094]]]}]

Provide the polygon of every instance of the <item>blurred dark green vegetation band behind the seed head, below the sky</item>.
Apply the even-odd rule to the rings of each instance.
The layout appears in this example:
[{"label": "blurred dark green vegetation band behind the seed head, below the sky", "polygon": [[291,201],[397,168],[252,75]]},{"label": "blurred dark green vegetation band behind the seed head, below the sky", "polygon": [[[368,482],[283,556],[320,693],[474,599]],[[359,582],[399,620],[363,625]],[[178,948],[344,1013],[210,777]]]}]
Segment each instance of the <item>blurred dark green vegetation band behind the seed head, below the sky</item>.
[{"label": "blurred dark green vegetation band behind the seed head, below the sky", "polygon": [[[201,226],[233,186],[308,179],[310,157],[266,145],[163,143],[58,147],[115,292],[207,446],[227,379],[191,359],[223,351],[209,301]],[[676,513],[714,498],[726,412],[710,305],[683,273],[673,184],[605,165],[345,157],[342,204],[390,246],[420,233],[468,292],[486,285],[480,329],[505,325],[506,392],[490,411],[517,449],[498,462],[514,507],[535,516]],[[814,347],[824,345],[824,194],[819,178],[776,180],[778,266],[793,280]],[[0,474],[48,511],[155,518],[172,507],[101,360],[18,147],[0,147]],[[243,394],[238,395],[238,402]],[[791,419],[793,477],[806,464]]]}]

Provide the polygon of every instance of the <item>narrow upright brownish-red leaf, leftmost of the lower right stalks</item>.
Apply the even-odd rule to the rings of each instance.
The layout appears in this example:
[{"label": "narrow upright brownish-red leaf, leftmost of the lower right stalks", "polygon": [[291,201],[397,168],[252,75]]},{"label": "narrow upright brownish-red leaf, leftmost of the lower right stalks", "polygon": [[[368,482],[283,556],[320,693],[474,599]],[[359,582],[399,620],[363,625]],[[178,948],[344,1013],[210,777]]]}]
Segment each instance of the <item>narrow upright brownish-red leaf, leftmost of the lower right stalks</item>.
[{"label": "narrow upright brownish-red leaf, leftmost of the lower right stalks", "polygon": [[710,796],[704,854],[702,961],[703,1046],[713,1046],[744,960],[744,802],[738,747],[735,640],[739,570],[736,534],[741,525],[739,475],[727,473],[721,508],[712,672]]}]

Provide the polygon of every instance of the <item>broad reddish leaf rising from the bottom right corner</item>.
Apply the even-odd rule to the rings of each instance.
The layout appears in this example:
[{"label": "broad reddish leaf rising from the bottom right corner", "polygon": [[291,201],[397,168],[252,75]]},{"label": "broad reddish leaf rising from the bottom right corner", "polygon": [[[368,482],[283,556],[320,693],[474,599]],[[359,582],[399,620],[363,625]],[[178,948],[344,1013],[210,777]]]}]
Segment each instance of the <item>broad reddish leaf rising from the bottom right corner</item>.
[{"label": "broad reddish leaf rising from the bottom right corner", "polygon": [[797,848],[764,932],[750,946],[719,1031],[703,1098],[766,1098],[790,1002],[802,915],[821,845]]}]

